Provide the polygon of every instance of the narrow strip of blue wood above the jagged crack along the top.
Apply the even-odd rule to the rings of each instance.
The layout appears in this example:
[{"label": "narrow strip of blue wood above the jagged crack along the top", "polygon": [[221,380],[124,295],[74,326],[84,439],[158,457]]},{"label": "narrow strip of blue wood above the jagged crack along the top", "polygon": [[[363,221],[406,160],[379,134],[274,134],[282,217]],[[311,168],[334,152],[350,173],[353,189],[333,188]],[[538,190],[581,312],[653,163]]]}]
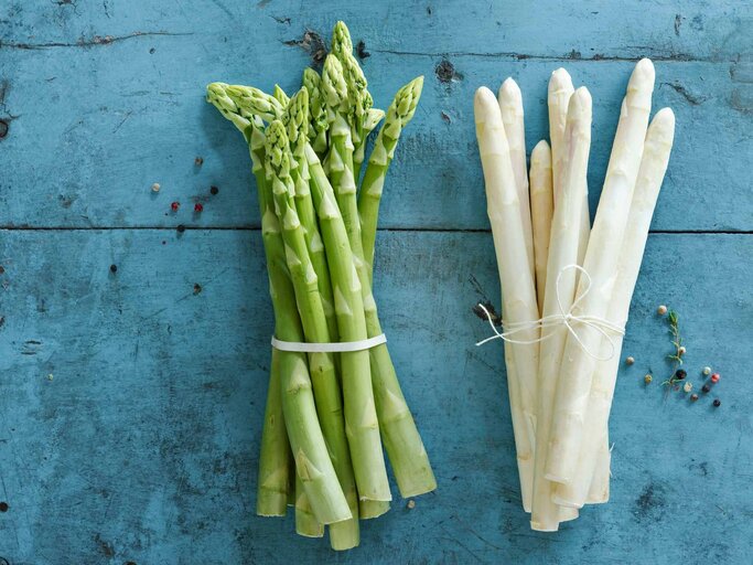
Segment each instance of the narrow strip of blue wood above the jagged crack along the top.
[{"label": "narrow strip of blue wood above the jagged crack along the top", "polygon": [[[750,7],[718,0],[713,9],[709,8],[692,0],[624,4],[596,0],[588,6],[563,6],[557,0],[335,0],[315,10],[291,0],[26,0],[11,3],[0,24],[3,43],[22,46],[86,43],[96,36],[144,32],[191,33],[201,43],[213,36],[229,39],[251,32],[254,47],[258,49],[270,41],[299,39],[305,28],[326,35],[336,20],[344,20],[367,49],[380,51],[514,57],[735,58],[741,46],[749,46]],[[245,52],[254,56],[250,47]]]}]

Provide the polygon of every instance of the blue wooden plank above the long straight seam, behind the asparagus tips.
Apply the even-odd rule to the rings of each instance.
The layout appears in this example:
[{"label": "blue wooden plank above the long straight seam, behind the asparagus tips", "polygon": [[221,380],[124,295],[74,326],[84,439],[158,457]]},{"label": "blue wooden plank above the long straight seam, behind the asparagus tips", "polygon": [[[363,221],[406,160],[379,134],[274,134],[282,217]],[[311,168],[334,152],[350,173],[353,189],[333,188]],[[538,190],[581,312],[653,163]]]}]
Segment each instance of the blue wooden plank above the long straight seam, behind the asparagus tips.
[{"label": "blue wooden plank above the long straight seam, behind the asparagus tips", "polygon": [[[617,25],[617,19],[643,8],[607,9],[607,3],[585,19],[577,10],[553,10],[551,2],[534,3],[530,11],[437,7],[432,14],[410,2],[373,11],[330,7],[315,14],[298,3],[249,8],[230,0],[196,0],[171,10],[147,2],[57,4],[14,4],[17,24],[2,29],[0,113],[14,117],[0,139],[2,225],[257,226],[254,195],[246,189],[247,151],[203,102],[203,88],[213,79],[270,88],[273,78],[295,88],[310,57],[283,41],[300,38],[306,25],[326,31],[338,14],[366,40],[372,56],[364,65],[377,104],[389,104],[412,76],[427,76],[420,110],[390,172],[383,227],[486,228],[473,92],[482,84],[496,87],[507,75],[518,79],[530,150],[546,135],[546,81],[562,64],[594,97],[593,213],[633,60],[654,54],[666,60],[657,62],[656,107],[670,105],[678,122],[654,227],[753,230],[747,161],[741,158],[753,153],[751,62],[743,33],[750,20],[735,2],[702,14],[692,2],[652,3],[639,19],[645,24],[633,28]],[[493,13],[482,17],[483,10]],[[246,12],[249,17],[240,18]],[[681,14],[678,34],[675,12]],[[416,24],[411,13],[426,18],[424,24]],[[108,35],[112,39],[103,39]],[[490,56],[498,51],[490,46],[502,43],[502,51],[535,56]],[[588,57],[588,45],[637,46],[599,49],[617,60],[566,57],[570,49]],[[688,56],[673,58],[657,50]],[[204,158],[201,168],[194,166],[197,156]],[[159,195],[150,191],[153,182],[162,184]],[[209,199],[212,184],[219,188],[218,198]],[[169,212],[172,201],[183,204],[178,215]],[[201,215],[191,213],[195,201],[205,204]]]}]

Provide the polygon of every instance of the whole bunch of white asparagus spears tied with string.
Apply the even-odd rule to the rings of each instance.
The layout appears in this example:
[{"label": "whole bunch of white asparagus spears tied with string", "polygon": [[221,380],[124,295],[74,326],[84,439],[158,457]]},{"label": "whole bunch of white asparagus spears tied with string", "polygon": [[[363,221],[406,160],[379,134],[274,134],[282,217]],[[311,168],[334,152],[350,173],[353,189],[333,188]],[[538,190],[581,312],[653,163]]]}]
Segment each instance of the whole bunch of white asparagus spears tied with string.
[{"label": "whole bunch of white asparagus spears tied with string", "polygon": [[[551,146],[526,174],[523,97],[506,79],[474,99],[503,289],[505,364],[524,509],[556,531],[610,497],[607,420],[622,335],[650,217],[667,168],[674,115],[648,128],[654,67],[636,65],[621,108],[591,231],[588,160],[592,103],[570,75],[548,87]],[[496,104],[495,104],[496,102]],[[582,268],[581,268],[582,267]]]}]

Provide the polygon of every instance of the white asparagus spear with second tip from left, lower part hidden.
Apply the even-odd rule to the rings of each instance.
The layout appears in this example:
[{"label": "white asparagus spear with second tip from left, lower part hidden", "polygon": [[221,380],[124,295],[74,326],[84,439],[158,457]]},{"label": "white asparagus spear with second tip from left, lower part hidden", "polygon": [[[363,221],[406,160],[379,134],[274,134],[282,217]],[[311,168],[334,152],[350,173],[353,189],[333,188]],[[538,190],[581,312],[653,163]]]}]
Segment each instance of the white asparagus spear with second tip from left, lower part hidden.
[{"label": "white asparagus spear with second tip from left, lower part hidden", "polygon": [[530,202],[528,198],[528,168],[526,167],[526,129],[524,126],[523,95],[517,83],[512,77],[505,79],[497,95],[502,122],[509,145],[509,159],[515,173],[515,186],[520,201],[520,216],[523,234],[526,238],[526,253],[531,276],[536,276],[534,266],[534,235],[530,220]]}]

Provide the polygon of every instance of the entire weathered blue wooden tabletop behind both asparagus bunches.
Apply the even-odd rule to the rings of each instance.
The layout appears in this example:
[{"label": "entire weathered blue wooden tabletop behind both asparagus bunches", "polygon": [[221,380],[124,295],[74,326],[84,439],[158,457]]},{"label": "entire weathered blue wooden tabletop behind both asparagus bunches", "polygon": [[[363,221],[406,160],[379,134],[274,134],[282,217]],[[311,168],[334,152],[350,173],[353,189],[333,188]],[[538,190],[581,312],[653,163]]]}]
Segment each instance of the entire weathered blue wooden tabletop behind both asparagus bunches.
[{"label": "entire weathered blue wooden tabletop behind both asparagus bunches", "polygon": [[[3,0],[0,556],[750,563],[753,10],[564,3]],[[272,319],[248,152],[203,98],[215,79],[292,90],[337,19],[364,42],[378,106],[427,78],[388,179],[375,286],[439,480],[412,509],[396,492],[347,554],[254,514]],[[588,85],[593,214],[641,56],[677,139],[625,340],[612,500],[540,534],[520,509],[502,349],[474,347],[487,328],[470,308],[498,281],[472,95],[514,76],[530,150],[551,71]],[[720,408],[663,394],[659,303],[681,316],[696,386],[703,365],[722,373]]]}]

